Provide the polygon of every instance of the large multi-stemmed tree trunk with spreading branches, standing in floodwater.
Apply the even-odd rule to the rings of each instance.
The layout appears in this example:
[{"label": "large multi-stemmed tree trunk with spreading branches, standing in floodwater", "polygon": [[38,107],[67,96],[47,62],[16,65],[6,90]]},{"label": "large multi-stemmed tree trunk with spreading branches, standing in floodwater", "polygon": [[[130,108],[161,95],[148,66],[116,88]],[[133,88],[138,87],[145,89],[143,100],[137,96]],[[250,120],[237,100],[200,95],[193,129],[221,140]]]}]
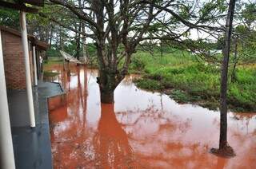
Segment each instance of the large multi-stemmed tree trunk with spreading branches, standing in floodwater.
[{"label": "large multi-stemmed tree trunk with spreading branches, standing in floodwater", "polygon": [[[101,89],[102,103],[113,103],[114,88],[128,72],[131,54],[134,53],[139,42],[144,40],[144,35],[150,33],[150,23],[154,22],[156,16],[164,9],[154,6],[157,5],[154,1],[140,4],[128,0],[118,1],[118,3],[94,0],[83,3],[85,8],[81,0],[78,0],[79,8],[77,3],[69,1],[50,0],[50,2],[71,10],[79,20],[85,23],[84,26],[90,29],[90,33],[83,34],[92,38],[97,48],[98,84]],[[139,29],[133,29],[134,27]],[[78,31],[78,33],[81,32]],[[130,33],[133,34],[132,37]],[[124,47],[124,53],[119,53],[121,44]],[[124,63],[121,65],[122,61]]]}]

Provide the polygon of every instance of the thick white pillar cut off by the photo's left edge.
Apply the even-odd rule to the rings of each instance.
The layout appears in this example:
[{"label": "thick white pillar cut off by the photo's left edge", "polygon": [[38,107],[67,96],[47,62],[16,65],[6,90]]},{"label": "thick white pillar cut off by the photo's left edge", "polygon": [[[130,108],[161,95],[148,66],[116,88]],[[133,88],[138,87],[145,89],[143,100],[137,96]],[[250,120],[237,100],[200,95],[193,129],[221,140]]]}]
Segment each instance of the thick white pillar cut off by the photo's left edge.
[{"label": "thick white pillar cut off by the photo's left edge", "polygon": [[0,168],[13,169],[14,147],[10,132],[10,117],[6,93],[6,77],[2,56],[2,39],[0,30]]}]

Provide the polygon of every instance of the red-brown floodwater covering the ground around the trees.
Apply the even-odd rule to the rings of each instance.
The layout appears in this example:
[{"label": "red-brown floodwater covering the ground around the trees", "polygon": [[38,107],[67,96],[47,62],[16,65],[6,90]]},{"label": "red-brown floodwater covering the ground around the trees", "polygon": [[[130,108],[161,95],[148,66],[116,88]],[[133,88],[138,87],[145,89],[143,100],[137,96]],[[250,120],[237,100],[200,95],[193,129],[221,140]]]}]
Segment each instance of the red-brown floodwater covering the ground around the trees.
[{"label": "red-brown floodwater covering the ground around the trees", "polygon": [[256,168],[256,114],[228,113],[228,140],[236,156],[209,153],[218,147],[219,112],[178,104],[147,92],[127,76],[114,104],[101,104],[97,70],[62,65],[54,81],[67,105],[50,112],[54,168]]}]

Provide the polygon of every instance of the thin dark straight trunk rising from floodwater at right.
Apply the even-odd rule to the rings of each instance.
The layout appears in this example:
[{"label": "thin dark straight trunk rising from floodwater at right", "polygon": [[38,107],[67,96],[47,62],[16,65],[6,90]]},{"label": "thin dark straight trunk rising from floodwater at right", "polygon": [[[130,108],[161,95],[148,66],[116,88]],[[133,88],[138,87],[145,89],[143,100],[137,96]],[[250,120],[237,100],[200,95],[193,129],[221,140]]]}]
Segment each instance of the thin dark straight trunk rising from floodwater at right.
[{"label": "thin dark straight trunk rising from floodwater at right", "polygon": [[235,0],[230,0],[229,10],[226,18],[226,33],[225,44],[222,49],[222,75],[221,75],[221,95],[220,95],[220,137],[219,137],[219,151],[226,151],[228,149],[227,143],[227,80],[228,80],[228,66],[230,58],[230,37],[232,33],[232,23],[234,18]]}]

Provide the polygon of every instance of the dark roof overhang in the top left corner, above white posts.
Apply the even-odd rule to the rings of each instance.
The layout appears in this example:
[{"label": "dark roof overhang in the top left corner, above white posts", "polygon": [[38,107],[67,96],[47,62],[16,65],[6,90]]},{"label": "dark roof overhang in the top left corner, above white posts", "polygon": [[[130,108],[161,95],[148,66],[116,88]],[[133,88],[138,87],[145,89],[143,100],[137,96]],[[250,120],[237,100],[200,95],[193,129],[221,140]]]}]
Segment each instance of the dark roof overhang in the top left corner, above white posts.
[{"label": "dark roof overhang in the top left corner, above white posts", "polygon": [[[30,6],[27,6],[29,4]],[[28,13],[37,13],[38,9],[34,6],[43,6],[44,0],[0,0],[0,7],[13,10],[22,10]]]}]

